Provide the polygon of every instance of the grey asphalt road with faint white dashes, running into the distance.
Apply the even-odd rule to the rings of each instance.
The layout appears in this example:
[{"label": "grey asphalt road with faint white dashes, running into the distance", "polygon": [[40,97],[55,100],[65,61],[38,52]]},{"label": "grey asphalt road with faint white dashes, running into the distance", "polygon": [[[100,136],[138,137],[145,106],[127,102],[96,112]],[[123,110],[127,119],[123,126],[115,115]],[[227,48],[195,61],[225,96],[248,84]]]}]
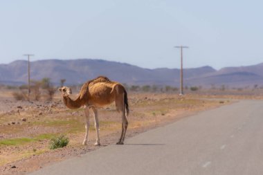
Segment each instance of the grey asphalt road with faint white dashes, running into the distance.
[{"label": "grey asphalt road with faint white dashes, running into the distance", "polygon": [[183,118],[33,174],[263,174],[263,101]]}]

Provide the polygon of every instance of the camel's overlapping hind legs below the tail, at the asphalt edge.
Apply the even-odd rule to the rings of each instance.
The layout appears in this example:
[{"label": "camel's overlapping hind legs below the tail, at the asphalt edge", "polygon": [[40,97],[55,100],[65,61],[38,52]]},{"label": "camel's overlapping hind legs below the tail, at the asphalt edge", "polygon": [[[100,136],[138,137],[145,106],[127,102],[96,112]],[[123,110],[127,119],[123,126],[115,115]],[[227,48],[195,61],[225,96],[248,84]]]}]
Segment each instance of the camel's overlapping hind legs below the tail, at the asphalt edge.
[{"label": "camel's overlapping hind legs below the tail, at the asphalt edge", "polygon": [[127,131],[127,127],[128,127],[128,120],[127,117],[125,115],[125,104],[123,102],[123,94],[118,95],[118,97],[116,97],[116,108],[118,111],[121,112],[122,114],[122,132],[120,135],[120,140],[116,143],[117,145],[123,145],[123,142],[125,140],[125,134]]}]

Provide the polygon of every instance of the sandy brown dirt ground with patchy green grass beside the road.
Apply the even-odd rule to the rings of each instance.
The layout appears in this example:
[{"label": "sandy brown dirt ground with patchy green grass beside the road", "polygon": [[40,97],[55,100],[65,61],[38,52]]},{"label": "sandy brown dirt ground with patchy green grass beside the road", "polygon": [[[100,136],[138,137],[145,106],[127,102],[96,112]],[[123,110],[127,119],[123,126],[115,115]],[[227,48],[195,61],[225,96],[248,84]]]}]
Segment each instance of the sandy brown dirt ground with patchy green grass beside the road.
[{"label": "sandy brown dirt ground with patchy green grass beside the road", "polygon": [[[0,97],[0,174],[28,174],[55,162],[81,156],[115,144],[120,137],[121,117],[111,104],[98,112],[101,146],[95,146],[91,115],[88,145],[83,146],[83,109],[67,109],[57,93],[52,102],[15,101],[11,92]],[[74,98],[74,96],[73,96]],[[130,115],[126,138],[154,127],[175,122],[233,100],[215,96],[165,93],[128,93]],[[64,134],[70,142],[64,148],[48,148],[51,138]]]}]

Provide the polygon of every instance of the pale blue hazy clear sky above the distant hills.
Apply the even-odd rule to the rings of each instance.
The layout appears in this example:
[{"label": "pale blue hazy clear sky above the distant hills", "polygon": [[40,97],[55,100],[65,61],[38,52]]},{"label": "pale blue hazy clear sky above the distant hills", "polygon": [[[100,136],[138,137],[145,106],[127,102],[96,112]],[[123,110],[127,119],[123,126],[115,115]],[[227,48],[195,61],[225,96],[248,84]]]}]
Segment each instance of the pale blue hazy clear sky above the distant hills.
[{"label": "pale blue hazy clear sky above the distant hills", "polygon": [[144,68],[263,62],[263,1],[0,0],[0,63],[107,59]]}]

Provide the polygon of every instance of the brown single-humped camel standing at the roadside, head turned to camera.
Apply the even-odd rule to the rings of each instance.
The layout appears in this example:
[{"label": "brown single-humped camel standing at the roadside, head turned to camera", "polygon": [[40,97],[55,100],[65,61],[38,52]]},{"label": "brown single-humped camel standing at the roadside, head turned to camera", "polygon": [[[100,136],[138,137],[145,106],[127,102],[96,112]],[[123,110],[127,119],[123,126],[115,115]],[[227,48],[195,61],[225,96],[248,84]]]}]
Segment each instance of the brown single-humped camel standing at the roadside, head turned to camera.
[{"label": "brown single-humped camel standing at the roadside, head turned to camera", "polygon": [[[98,122],[98,108],[105,107],[105,105],[115,102],[116,110],[121,113],[123,124],[120,140],[117,145],[123,145],[125,140],[125,133],[128,127],[127,116],[129,115],[129,104],[127,98],[127,91],[119,82],[113,82],[107,77],[97,77],[82,85],[78,98],[72,100],[69,98],[71,89],[67,86],[62,86],[60,89],[62,99],[66,107],[69,109],[79,109],[84,107],[84,114],[86,118],[85,137],[82,145],[87,145],[89,132],[89,109],[93,111],[95,128],[96,128],[96,142],[94,145],[100,145],[99,136],[99,122]],[[126,115],[125,115],[126,111]]]}]

